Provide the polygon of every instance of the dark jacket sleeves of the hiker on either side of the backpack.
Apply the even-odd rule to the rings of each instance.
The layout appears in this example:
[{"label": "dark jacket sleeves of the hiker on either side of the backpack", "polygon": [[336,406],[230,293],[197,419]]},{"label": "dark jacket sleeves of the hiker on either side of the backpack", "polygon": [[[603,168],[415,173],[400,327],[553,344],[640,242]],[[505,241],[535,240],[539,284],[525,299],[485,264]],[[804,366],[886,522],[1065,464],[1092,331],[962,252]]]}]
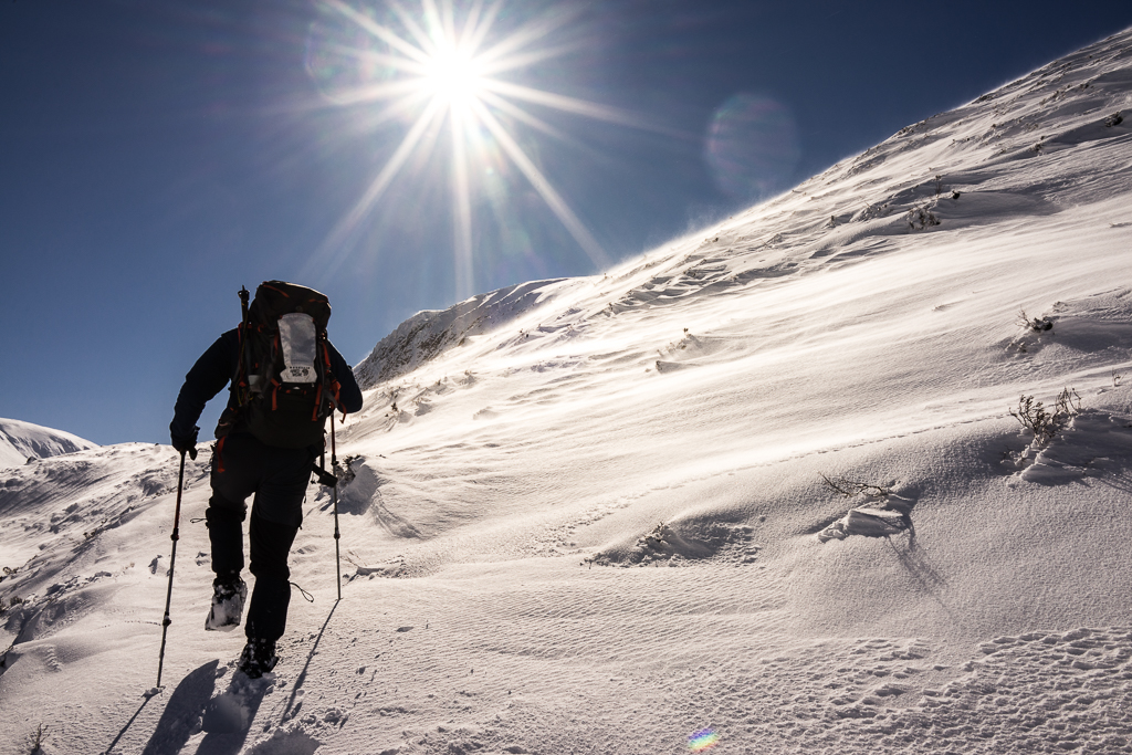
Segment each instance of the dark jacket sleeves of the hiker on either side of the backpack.
[{"label": "dark jacket sleeves of the hiker on either side of the backpack", "polygon": [[[345,412],[353,413],[361,410],[361,388],[354,379],[353,370],[346,364],[337,349],[329,342],[326,343],[331,353],[331,372],[338,381],[341,389],[338,393],[338,404]],[[174,445],[178,439],[192,438],[196,440],[197,420],[205,410],[205,404],[220,393],[235,375],[237,364],[240,361],[240,334],[233,328],[221,337],[216,338],[213,345],[200,355],[192,369],[185,376],[185,385],[177,395],[177,405],[173,409],[173,421],[169,426],[170,435]],[[234,396],[229,397],[229,407],[233,406]],[[239,426],[233,430],[239,431]]]}]

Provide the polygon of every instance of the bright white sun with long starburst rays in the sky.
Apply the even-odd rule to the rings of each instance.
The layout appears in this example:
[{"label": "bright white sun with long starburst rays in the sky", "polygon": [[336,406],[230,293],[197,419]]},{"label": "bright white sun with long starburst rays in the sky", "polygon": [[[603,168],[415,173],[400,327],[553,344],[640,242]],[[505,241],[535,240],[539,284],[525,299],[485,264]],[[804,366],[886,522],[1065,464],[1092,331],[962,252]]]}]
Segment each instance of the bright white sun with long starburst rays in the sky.
[{"label": "bright white sun with long starburst rays in the sky", "polygon": [[571,23],[568,12],[551,3],[544,15],[495,35],[504,0],[468,0],[463,5],[456,0],[419,0],[412,8],[398,0],[319,0],[319,7],[336,24],[336,35],[323,45],[328,51],[325,54],[333,59],[333,65],[326,67],[345,69],[353,76],[349,87],[334,92],[335,104],[369,108],[369,123],[400,120],[406,123],[406,130],[305,272],[333,271],[342,263],[349,237],[413,155],[436,147],[437,127],[445,121],[451,139],[448,182],[458,297],[474,293],[470,174],[482,168],[475,161],[486,154],[505,156],[522,173],[597,269],[609,264],[601,244],[505,126],[517,123],[548,137],[561,137],[551,123],[525,106],[535,105],[653,130],[643,119],[615,108],[509,78],[572,49],[548,42],[556,29]]}]

